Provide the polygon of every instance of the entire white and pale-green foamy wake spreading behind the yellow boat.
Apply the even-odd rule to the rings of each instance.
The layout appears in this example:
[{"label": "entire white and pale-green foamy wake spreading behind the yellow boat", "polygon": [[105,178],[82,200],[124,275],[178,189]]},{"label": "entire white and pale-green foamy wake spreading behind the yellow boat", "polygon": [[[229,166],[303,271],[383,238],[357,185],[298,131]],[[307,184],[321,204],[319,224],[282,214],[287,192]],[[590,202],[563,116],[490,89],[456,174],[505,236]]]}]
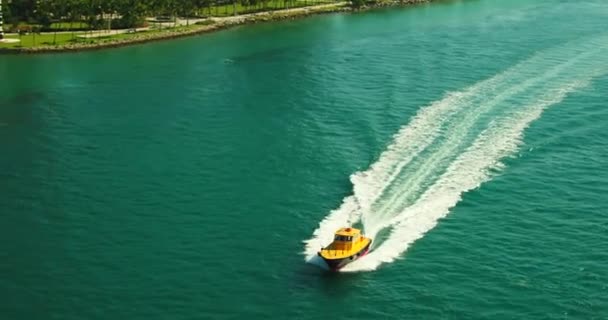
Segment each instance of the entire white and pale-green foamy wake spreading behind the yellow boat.
[{"label": "entire white and pale-green foamy wake spreading behind the yellow boat", "polygon": [[[305,241],[307,261],[345,225],[361,224],[373,251],[344,271],[375,270],[401,256],[445,217],[464,192],[501,169],[524,130],[551,105],[608,73],[608,36],[539,52],[424,107],[379,159],[351,175],[353,195]],[[387,237],[376,239],[379,232]]]}]

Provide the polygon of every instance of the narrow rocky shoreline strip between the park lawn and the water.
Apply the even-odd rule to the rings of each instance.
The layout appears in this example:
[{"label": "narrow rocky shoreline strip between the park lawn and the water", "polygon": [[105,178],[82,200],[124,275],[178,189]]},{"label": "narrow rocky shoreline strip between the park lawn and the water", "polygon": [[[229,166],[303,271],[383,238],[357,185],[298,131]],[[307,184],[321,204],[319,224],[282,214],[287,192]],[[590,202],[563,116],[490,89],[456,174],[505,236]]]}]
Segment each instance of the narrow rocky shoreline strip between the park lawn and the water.
[{"label": "narrow rocky shoreline strip between the park lawn and the water", "polygon": [[0,54],[41,54],[41,53],[70,53],[70,52],[81,52],[81,51],[93,51],[103,50],[110,48],[125,47],[131,45],[138,45],[148,42],[171,40],[177,38],[190,37],[200,35],[204,33],[210,33],[220,30],[225,30],[231,27],[265,23],[272,21],[281,20],[295,20],[302,19],[313,15],[321,15],[328,13],[339,13],[339,12],[364,12],[378,8],[386,7],[400,7],[409,6],[413,4],[427,3],[430,0],[405,0],[405,1],[390,1],[380,2],[371,6],[364,6],[361,8],[352,8],[348,2],[338,2],[332,4],[324,4],[318,6],[300,7],[276,11],[265,11],[258,13],[245,14],[233,17],[224,18],[210,18],[214,21],[212,24],[207,25],[192,25],[187,30],[167,30],[165,32],[159,32],[154,34],[135,34],[131,38],[125,39],[109,39],[107,42],[100,43],[80,43],[80,44],[68,44],[68,45],[45,45],[37,47],[27,48],[0,48]]}]

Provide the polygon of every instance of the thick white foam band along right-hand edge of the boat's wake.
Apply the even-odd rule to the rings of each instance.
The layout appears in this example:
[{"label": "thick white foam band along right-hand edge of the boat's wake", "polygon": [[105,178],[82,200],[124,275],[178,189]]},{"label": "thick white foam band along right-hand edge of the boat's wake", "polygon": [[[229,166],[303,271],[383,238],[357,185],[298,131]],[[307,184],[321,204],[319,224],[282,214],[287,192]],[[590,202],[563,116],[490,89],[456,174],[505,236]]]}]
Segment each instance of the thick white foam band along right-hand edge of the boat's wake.
[{"label": "thick white foam band along right-hand edge of the boat's wake", "polygon": [[491,178],[490,170],[500,168],[499,159],[514,152],[521,143],[523,131],[540,117],[542,111],[562,99],[584,83],[572,84],[556,93],[554,98],[530,106],[530,110],[516,115],[512,122],[494,124],[473,146],[463,153],[441,177],[411,207],[389,222],[393,230],[389,238],[366,259],[347,266],[344,271],[374,270],[381,263],[392,262],[407,250],[409,245],[445,217],[461,199],[461,195],[479,187]]}]

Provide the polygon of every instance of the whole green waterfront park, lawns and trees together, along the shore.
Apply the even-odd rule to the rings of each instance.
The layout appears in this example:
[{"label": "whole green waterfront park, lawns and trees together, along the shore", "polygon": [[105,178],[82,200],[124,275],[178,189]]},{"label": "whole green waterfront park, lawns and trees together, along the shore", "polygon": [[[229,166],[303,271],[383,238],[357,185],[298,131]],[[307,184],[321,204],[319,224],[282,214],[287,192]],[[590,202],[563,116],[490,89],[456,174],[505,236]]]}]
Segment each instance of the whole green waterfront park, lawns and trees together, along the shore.
[{"label": "whole green waterfront park, lawns and trees together, along the shore", "polygon": [[[219,19],[217,26],[210,26],[216,21],[209,17],[231,17],[336,2],[340,1],[12,0],[7,5],[4,0],[4,29],[8,32],[5,36],[20,41],[0,43],[0,49],[47,51],[114,46],[205,32],[244,22],[286,19],[310,11],[252,16],[245,20]],[[340,6],[316,8],[314,12],[332,11]]]}]

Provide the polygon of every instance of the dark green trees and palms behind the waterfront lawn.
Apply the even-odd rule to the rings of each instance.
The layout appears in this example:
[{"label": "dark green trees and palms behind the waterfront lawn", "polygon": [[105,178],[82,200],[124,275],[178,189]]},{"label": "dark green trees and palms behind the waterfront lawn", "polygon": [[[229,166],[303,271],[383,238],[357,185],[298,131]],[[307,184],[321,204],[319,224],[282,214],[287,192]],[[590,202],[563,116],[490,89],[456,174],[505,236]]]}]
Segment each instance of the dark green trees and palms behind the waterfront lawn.
[{"label": "dark green trees and palms behind the waterfront lawn", "polygon": [[[303,7],[336,0],[12,0],[2,6],[9,32],[126,29],[146,17],[174,21]],[[21,29],[20,29],[21,28]]]}]

